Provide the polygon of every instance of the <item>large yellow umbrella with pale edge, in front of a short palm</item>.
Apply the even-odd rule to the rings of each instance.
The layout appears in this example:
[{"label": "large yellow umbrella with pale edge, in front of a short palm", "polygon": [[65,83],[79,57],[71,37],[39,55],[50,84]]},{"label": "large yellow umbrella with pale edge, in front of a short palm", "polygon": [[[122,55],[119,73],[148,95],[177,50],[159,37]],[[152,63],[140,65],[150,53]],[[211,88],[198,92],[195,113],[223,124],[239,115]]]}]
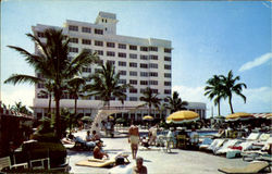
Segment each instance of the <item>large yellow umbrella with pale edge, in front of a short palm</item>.
[{"label": "large yellow umbrella with pale edge, in front of a short palm", "polygon": [[166,117],[166,123],[185,123],[199,119],[199,114],[193,111],[177,111]]}]

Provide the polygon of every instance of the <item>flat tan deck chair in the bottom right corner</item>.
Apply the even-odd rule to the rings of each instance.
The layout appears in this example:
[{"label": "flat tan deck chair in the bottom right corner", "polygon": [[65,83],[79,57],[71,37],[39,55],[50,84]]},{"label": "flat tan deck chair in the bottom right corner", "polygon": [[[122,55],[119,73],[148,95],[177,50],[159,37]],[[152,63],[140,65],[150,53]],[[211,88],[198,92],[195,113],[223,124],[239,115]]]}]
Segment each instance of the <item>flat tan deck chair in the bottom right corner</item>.
[{"label": "flat tan deck chair in the bottom right corner", "polygon": [[[227,173],[227,174],[239,174],[239,173],[244,173],[244,174],[256,174],[261,172],[262,170],[269,167],[269,163],[265,161],[258,161],[258,162],[251,162],[249,163],[247,166],[245,167],[222,167],[219,169],[219,172],[223,172],[223,173]],[[269,167],[270,170],[270,167]],[[271,172],[271,170],[270,170]]]}]

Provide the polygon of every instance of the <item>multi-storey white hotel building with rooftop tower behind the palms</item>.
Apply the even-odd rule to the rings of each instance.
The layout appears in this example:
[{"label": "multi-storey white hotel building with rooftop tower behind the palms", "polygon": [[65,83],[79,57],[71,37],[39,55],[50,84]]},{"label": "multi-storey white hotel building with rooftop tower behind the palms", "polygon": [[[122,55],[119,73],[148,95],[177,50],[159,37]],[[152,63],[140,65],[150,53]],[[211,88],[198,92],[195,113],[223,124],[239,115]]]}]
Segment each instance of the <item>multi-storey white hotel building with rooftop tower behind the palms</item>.
[{"label": "multi-storey white hotel building with rooftop tower behind the palms", "polygon": [[[67,20],[63,27],[37,24],[33,26],[33,32],[42,39],[42,32],[46,28],[54,27],[62,29],[63,34],[71,38],[71,59],[83,49],[89,49],[92,52],[97,52],[103,63],[109,61],[114,64],[115,71],[121,72],[120,84],[131,84],[135,89],[126,91],[127,98],[123,105],[120,101],[113,99],[110,101],[111,107],[134,108],[143,104],[139,98],[146,87],[150,87],[153,89],[153,92],[158,92],[161,99],[171,96],[171,41],[116,35],[118,22],[115,14],[99,12],[95,24]],[[37,53],[37,48],[35,48],[35,52]],[[88,69],[83,70],[83,75],[92,74],[98,69],[97,65],[90,65]],[[34,110],[37,117],[46,116],[48,111],[49,99],[38,96],[40,89],[42,89],[42,85],[36,85]],[[60,105],[61,108],[73,110],[74,100],[69,99],[69,96],[64,96]],[[88,100],[79,99],[77,101],[77,112],[83,115],[94,116],[97,109],[101,107],[102,101],[96,97],[90,97]],[[53,101],[52,108],[54,108]],[[190,103],[189,109],[198,112],[201,117],[206,116],[205,103]],[[151,113],[153,112],[154,110]],[[136,111],[118,113],[116,116],[141,120],[143,115],[147,113],[147,108],[143,108]],[[157,111],[156,117],[164,117],[165,115],[165,111]]]}]

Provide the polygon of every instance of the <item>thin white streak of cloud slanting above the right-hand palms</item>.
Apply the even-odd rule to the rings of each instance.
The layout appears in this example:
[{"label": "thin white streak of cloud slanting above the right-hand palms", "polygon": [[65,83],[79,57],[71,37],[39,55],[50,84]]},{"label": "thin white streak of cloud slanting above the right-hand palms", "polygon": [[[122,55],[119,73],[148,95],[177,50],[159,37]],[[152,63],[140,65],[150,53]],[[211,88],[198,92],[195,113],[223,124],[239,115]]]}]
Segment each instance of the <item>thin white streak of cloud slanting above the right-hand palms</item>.
[{"label": "thin white streak of cloud slanting above the right-hand palms", "polygon": [[259,65],[268,62],[270,59],[272,59],[272,53],[271,52],[264,53],[261,57],[256,58],[254,61],[250,61],[250,62],[243,64],[239,69],[239,72],[244,72],[244,71],[250,70],[252,67],[259,66]]}]

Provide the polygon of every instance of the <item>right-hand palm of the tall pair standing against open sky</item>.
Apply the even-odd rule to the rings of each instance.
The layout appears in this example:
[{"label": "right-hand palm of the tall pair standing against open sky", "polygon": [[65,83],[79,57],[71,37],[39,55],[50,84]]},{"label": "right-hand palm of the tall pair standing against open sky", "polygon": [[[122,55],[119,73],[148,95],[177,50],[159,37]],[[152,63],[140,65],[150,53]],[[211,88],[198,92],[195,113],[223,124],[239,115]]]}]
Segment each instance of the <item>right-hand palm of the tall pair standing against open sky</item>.
[{"label": "right-hand palm of the tall pair standing against open sky", "polygon": [[247,85],[244,83],[236,84],[236,82],[239,80],[239,76],[234,77],[232,71],[228,72],[226,77],[224,75],[220,75],[220,77],[222,78],[222,83],[224,86],[224,96],[228,98],[231,112],[234,113],[232,105],[233,92],[240,96],[244,99],[244,102],[246,103],[246,96],[242,94],[242,90],[243,87],[247,88]]}]

